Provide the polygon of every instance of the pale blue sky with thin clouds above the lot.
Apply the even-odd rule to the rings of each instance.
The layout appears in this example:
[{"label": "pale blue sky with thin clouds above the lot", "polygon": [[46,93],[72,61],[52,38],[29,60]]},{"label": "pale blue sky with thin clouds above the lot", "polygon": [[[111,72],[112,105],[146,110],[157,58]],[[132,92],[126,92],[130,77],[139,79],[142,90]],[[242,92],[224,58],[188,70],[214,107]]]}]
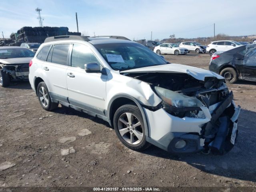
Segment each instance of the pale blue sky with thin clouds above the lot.
[{"label": "pale blue sky with thin clouds above the lot", "polygon": [[[256,0],[1,0],[0,31],[8,37],[23,26],[67,26],[88,36],[130,39],[196,38],[216,34],[256,34]],[[2,36],[2,35],[1,35]]]}]

